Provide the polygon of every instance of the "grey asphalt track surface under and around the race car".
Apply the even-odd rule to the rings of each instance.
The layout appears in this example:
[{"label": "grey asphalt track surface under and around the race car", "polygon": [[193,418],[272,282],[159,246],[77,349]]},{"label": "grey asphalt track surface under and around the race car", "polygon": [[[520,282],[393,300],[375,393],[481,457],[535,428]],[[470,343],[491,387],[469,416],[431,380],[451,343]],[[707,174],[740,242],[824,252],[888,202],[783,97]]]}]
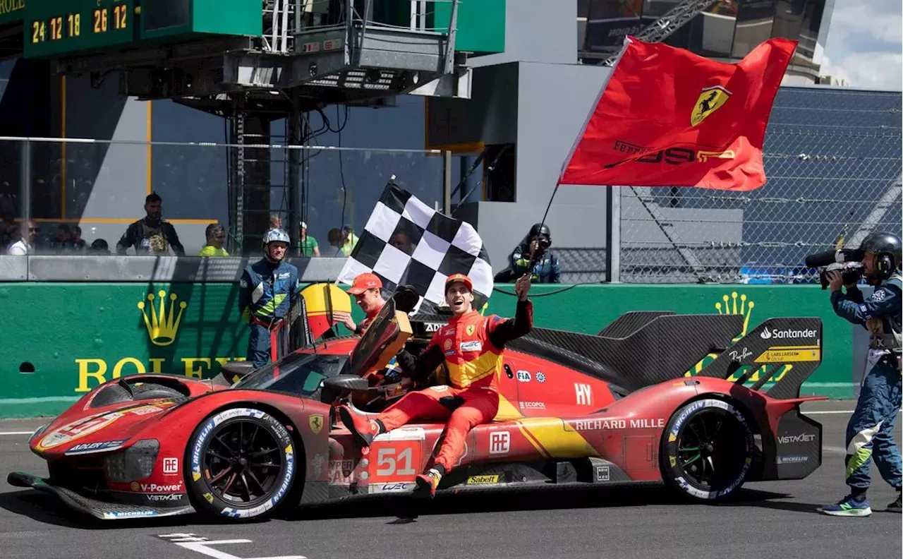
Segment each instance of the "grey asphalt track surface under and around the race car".
[{"label": "grey asphalt track surface under and around the race car", "polygon": [[[51,495],[6,483],[24,470],[46,475],[28,435],[0,434],[0,557],[4,559],[237,559],[251,557],[757,558],[898,556],[903,515],[884,512],[894,493],[872,465],[872,515],[826,517],[815,508],[845,494],[843,433],[853,402],[816,402],[805,412],[824,425],[822,466],[805,480],[748,483],[735,501],[687,505],[660,489],[587,489],[437,498],[414,521],[408,499],[293,512],[228,525],[196,515],[94,521]],[[841,413],[837,413],[841,412]],[[0,433],[41,420],[0,421]],[[895,431],[903,442],[903,429]],[[192,550],[161,535],[232,540]],[[238,541],[236,541],[238,540]],[[244,541],[241,541],[244,540]],[[249,541],[248,541],[249,540]]]}]

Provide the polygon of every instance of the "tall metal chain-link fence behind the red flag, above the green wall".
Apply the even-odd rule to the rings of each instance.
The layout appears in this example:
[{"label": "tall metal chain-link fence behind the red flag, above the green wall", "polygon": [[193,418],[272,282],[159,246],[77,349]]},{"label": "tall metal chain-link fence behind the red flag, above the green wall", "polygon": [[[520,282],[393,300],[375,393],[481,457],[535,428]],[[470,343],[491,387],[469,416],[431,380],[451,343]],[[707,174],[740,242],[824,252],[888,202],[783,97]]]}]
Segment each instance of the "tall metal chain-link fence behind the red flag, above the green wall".
[{"label": "tall metal chain-link fence behind the red flag, above the green wall", "polygon": [[805,256],[903,234],[903,95],[782,88],[756,191],[622,187],[620,281],[818,282]]}]

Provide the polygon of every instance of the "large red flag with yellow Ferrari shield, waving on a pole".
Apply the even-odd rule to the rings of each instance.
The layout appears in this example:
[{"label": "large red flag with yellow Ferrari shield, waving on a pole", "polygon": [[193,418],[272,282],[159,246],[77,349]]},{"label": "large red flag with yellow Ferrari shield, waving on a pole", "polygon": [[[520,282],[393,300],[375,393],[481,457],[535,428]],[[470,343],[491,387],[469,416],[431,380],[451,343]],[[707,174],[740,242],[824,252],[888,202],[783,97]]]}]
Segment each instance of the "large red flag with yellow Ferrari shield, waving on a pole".
[{"label": "large red flag with yellow Ferrari shield, waving on a pole", "polygon": [[796,41],[770,39],[742,61],[628,37],[559,184],[765,184],[765,129]]}]

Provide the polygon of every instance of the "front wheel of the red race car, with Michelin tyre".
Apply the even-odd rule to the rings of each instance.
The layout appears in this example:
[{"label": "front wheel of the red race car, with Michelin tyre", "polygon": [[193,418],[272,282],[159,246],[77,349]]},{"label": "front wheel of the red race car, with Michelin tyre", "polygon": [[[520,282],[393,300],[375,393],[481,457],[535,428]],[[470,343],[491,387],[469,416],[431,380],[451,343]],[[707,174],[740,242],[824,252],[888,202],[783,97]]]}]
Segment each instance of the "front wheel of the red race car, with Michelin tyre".
[{"label": "front wheel of the red race car, with Michelin tyre", "polygon": [[294,495],[299,453],[285,425],[253,407],[218,410],[191,433],[185,487],[201,512],[231,521],[269,517]]}]

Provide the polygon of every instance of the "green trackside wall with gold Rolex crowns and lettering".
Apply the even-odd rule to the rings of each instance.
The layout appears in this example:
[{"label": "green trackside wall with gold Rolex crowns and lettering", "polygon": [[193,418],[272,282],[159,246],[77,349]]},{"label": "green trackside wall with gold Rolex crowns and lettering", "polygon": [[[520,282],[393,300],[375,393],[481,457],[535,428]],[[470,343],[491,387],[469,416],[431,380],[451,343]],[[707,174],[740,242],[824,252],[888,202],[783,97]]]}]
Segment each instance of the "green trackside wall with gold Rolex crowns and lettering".
[{"label": "green trackside wall with gold Rolex crowns and lettering", "polygon": [[[486,312],[513,314],[513,288],[497,289]],[[535,285],[531,294],[537,325],[588,333],[628,311],[742,313],[750,330],[768,317],[820,317],[823,361],[803,393],[853,396],[852,324],[817,285]],[[59,413],[120,375],[213,377],[247,348],[237,284],[2,284],[0,311],[0,417]]]}]

